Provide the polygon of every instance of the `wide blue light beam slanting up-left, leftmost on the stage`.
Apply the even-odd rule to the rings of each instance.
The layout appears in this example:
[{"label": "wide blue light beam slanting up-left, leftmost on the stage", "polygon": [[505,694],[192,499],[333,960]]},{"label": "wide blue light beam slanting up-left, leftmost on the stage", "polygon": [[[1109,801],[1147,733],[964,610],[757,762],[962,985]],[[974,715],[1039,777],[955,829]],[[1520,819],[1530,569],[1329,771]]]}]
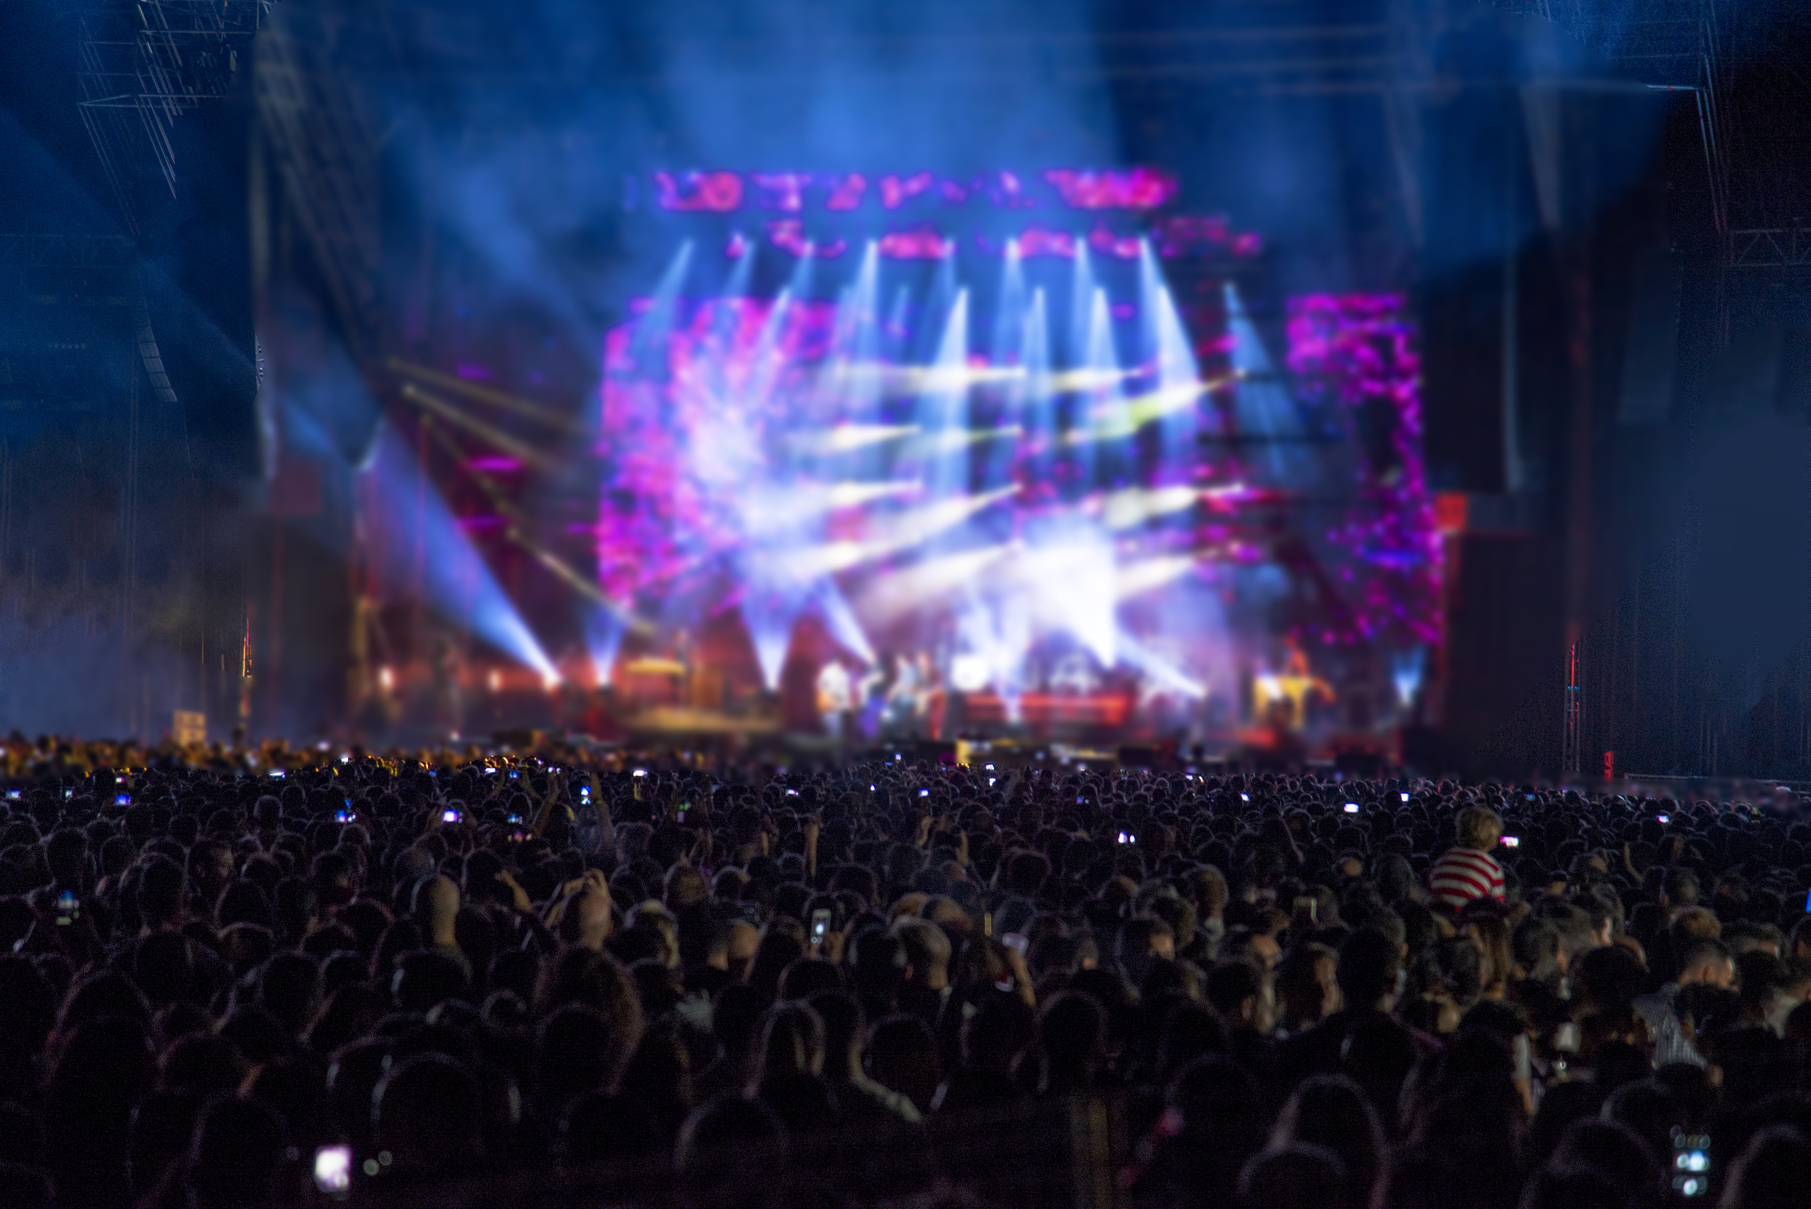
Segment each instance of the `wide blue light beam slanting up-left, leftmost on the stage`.
[{"label": "wide blue light beam slanting up-left, leftmost on the stage", "polygon": [[388,422],[364,474],[382,496],[386,512],[395,518],[395,530],[422,536],[422,603],[556,684],[560,673],[547,652],[498,586],[471,538],[453,519],[440,489],[422,481],[422,469],[407,442]]}]

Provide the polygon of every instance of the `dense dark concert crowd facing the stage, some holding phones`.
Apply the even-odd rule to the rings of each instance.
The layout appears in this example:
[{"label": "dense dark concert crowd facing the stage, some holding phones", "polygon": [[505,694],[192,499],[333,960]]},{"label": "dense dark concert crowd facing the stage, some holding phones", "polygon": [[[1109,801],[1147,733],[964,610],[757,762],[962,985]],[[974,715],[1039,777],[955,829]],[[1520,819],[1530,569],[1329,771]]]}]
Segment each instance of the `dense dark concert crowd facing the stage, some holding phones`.
[{"label": "dense dark concert crowd facing the stage, some holding phones", "polygon": [[0,1202],[1811,1196],[1784,791],[319,760],[14,769]]}]

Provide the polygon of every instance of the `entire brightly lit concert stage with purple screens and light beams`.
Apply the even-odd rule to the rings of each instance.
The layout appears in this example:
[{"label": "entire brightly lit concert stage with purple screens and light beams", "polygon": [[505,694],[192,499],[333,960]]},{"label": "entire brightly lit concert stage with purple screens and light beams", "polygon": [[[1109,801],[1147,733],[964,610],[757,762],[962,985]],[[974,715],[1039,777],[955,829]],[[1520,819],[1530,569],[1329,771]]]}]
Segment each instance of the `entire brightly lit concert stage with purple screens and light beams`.
[{"label": "entire brightly lit concert stage with purple screens and light beams", "polygon": [[531,369],[520,317],[389,362],[366,726],[1324,755],[1416,719],[1402,297],[1280,295],[1157,168],[659,172],[623,205],[659,264],[594,376]]}]

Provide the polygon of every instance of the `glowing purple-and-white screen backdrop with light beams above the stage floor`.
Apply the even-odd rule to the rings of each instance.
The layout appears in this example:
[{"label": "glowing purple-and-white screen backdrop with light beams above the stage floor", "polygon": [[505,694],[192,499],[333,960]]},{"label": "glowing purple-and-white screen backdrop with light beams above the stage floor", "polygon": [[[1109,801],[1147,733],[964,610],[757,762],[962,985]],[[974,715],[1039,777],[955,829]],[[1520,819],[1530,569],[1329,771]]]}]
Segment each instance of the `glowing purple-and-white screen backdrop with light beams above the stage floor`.
[{"label": "glowing purple-and-white screen backdrop with light beams above the stage floor", "polygon": [[[1204,215],[1161,217],[1141,239],[1101,214],[1166,205],[1168,177],[737,181],[739,205],[766,210],[744,230],[799,264],[779,293],[744,297],[755,244],[735,237],[748,261],[723,297],[686,295],[668,270],[607,335],[598,516],[567,528],[596,543],[610,599],[694,637],[739,614],[768,688],[788,650],[819,657],[790,648],[804,633],[851,673],[909,657],[1001,699],[1056,682],[1063,659],[1152,693],[1235,695],[1235,662],[1262,664],[1280,637],[1246,608],[1279,577],[1324,588],[1308,595],[1326,604],[1288,624],[1347,671],[1364,661],[1342,650],[1438,643],[1440,550],[1400,297],[1291,300],[1282,376],[1241,308],[1201,290],[1179,308],[1159,264],[1224,264],[1259,255],[1262,239]],[[685,188],[674,197],[694,210],[706,190],[730,195],[704,176]],[[1063,215],[1052,188],[1092,212]],[[980,194],[1047,214],[960,235],[927,214]],[[880,206],[867,223],[817,226],[813,212],[855,212],[869,195]],[[840,252],[853,255],[829,273],[837,300],[813,299],[828,288],[806,257]],[[1074,268],[1032,277],[1027,257]],[[1137,262],[1135,293],[1107,261]],[[1197,438],[1210,425],[1230,443],[1210,451]],[[1298,429],[1337,440],[1297,454],[1286,438]],[[1329,498],[1347,503],[1304,512]]]}]

